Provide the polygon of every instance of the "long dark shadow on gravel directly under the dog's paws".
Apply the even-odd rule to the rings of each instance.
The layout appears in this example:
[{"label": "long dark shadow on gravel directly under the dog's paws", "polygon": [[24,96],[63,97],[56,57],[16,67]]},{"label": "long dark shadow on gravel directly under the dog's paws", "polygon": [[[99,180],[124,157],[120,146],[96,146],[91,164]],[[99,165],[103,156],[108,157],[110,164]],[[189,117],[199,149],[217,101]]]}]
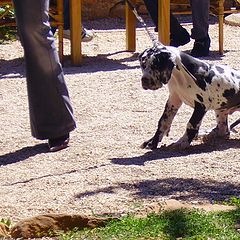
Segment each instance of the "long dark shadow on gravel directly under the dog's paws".
[{"label": "long dark shadow on gravel directly under the dog's paws", "polygon": [[218,140],[213,143],[201,143],[190,146],[187,149],[179,150],[171,146],[162,146],[153,151],[147,151],[145,154],[136,157],[112,158],[111,162],[118,165],[144,165],[145,162],[154,160],[168,160],[176,157],[186,157],[190,155],[211,153],[213,151],[224,151],[227,149],[239,148],[238,139]]}]

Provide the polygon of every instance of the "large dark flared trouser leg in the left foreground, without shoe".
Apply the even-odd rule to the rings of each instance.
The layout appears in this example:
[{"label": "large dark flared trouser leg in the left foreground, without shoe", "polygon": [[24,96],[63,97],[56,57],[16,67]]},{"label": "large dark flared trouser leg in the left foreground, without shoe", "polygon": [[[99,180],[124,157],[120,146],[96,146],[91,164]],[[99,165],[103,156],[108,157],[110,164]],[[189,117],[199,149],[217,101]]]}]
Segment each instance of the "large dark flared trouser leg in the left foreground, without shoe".
[{"label": "large dark flared trouser leg in the left foreground, without shoe", "polygon": [[68,135],[76,124],[49,25],[49,0],[14,0],[14,6],[26,62],[32,135]]}]

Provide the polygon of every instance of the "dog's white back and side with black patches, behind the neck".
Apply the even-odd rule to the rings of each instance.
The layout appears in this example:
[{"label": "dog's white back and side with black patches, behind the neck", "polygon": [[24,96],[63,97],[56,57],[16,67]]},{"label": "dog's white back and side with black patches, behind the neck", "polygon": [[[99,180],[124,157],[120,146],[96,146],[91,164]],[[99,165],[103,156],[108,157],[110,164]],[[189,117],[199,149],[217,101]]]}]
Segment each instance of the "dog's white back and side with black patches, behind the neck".
[{"label": "dog's white back and side with black patches, behind the neck", "polygon": [[207,109],[238,109],[240,105],[240,72],[227,65],[207,64],[181,52],[181,62],[194,76],[195,94]]}]

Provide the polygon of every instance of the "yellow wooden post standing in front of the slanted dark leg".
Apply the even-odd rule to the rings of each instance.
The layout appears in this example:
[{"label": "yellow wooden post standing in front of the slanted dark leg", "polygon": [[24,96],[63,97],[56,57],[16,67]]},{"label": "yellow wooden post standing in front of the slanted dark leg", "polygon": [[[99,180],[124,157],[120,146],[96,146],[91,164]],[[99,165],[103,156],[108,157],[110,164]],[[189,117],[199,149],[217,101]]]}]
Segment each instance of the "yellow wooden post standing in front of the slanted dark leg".
[{"label": "yellow wooden post standing in front of the slanted dark leg", "polygon": [[158,39],[170,44],[170,0],[158,0]]}]

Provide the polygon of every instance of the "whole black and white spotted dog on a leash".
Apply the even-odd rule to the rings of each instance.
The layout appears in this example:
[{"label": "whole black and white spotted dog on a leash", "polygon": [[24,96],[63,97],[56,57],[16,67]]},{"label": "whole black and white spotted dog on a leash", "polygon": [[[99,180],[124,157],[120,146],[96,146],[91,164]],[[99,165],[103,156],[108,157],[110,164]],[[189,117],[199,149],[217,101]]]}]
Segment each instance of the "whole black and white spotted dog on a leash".
[{"label": "whole black and white spotted dog on a leash", "polygon": [[194,111],[184,135],[173,147],[189,147],[197,137],[201,121],[208,110],[214,110],[217,126],[205,140],[227,138],[228,114],[240,110],[240,72],[225,65],[208,64],[175,47],[156,44],[139,55],[143,72],[142,87],[156,90],[167,84],[169,97],[158,122],[155,135],[142,148],[155,149],[168,135],[174,116],[185,103]]}]

